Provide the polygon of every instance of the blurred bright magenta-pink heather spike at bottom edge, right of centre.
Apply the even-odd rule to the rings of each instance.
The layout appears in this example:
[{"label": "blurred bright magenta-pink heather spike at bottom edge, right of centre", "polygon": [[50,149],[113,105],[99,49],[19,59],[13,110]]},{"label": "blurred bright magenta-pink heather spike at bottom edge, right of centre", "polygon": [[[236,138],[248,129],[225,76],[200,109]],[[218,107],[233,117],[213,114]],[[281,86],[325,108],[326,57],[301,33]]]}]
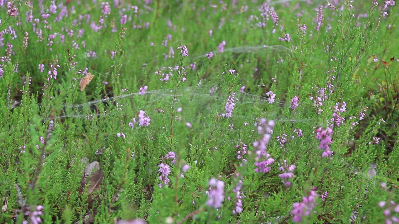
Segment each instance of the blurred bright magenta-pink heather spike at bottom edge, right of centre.
[{"label": "blurred bright magenta-pink heather spike at bottom edge, right of centre", "polygon": [[300,222],[302,220],[302,216],[309,216],[310,212],[314,208],[314,204],[316,202],[316,191],[309,191],[308,196],[302,197],[302,202],[296,202],[292,205],[293,209],[291,214],[294,215],[292,218],[293,222]]}]

